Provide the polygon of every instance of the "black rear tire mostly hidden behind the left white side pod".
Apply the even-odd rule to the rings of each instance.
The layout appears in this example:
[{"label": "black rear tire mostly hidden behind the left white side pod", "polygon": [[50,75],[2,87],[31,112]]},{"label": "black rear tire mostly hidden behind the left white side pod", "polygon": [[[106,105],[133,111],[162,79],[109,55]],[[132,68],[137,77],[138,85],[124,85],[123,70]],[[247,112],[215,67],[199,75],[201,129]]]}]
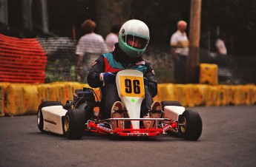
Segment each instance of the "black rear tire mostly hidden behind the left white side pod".
[{"label": "black rear tire mostly hidden behind the left white side pod", "polygon": [[62,103],[59,101],[43,101],[39,105],[37,110],[37,126],[41,132],[44,132],[44,116],[42,115],[42,108],[45,106],[62,106]]}]

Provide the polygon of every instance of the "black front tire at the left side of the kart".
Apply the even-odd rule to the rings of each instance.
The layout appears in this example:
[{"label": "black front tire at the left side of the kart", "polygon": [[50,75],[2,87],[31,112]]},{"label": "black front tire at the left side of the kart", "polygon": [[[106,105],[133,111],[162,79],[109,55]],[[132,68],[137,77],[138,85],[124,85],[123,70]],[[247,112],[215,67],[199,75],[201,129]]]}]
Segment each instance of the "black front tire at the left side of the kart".
[{"label": "black front tire at the left side of the kart", "polygon": [[81,139],[85,131],[85,110],[70,109],[65,115],[63,132],[68,139]]}]

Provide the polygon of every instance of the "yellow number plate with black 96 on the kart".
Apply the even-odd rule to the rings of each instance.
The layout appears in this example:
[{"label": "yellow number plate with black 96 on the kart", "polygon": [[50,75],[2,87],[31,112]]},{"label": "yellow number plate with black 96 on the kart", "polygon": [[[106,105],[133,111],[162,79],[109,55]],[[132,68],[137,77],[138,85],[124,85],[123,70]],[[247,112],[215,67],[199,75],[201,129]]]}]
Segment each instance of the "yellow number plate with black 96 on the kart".
[{"label": "yellow number plate with black 96 on the kart", "polygon": [[144,98],[144,83],[142,77],[120,76],[119,81],[122,97]]}]

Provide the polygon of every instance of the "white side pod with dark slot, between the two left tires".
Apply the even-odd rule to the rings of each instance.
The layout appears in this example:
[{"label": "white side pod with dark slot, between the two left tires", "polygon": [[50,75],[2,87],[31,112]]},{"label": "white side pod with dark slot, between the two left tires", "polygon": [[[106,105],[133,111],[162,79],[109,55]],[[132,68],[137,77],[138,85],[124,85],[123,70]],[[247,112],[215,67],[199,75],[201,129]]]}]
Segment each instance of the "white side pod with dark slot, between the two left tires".
[{"label": "white side pod with dark slot, between the two left tires", "polygon": [[62,117],[66,115],[68,110],[63,109],[63,106],[45,106],[42,108],[44,118],[43,130],[56,134],[63,134]]}]

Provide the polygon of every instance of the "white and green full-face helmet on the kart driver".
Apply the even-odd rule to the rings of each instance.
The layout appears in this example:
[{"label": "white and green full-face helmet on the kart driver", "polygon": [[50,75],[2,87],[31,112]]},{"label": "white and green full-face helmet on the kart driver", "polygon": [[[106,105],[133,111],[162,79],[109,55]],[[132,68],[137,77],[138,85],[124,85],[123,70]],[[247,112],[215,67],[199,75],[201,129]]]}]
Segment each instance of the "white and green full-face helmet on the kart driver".
[{"label": "white and green full-face helmet on the kart driver", "polygon": [[120,49],[131,58],[139,58],[148,46],[148,26],[140,20],[129,20],[119,30]]}]

